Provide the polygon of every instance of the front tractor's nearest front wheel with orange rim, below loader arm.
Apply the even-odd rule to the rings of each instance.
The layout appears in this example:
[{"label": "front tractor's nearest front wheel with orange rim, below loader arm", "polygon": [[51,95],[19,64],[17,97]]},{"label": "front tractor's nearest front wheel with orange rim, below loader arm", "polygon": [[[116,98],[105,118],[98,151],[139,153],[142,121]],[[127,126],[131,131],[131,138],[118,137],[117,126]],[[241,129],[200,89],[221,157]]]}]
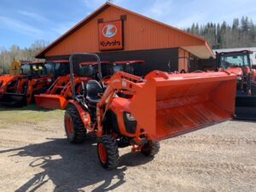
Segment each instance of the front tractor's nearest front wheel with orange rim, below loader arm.
[{"label": "front tractor's nearest front wheel with orange rim, below loader arm", "polygon": [[104,135],[98,139],[97,154],[105,169],[114,169],[119,165],[118,143],[113,137]]}]

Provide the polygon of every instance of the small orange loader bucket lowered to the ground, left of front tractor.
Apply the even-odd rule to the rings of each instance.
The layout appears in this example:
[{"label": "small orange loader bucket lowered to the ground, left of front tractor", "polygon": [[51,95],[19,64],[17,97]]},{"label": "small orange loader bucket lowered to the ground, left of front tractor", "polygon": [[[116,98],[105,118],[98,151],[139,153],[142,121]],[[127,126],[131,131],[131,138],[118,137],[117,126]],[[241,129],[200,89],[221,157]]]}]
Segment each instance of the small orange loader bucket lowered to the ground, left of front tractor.
[{"label": "small orange loader bucket lowered to the ground, left of front tractor", "polygon": [[49,109],[65,109],[67,107],[67,99],[64,96],[40,94],[35,96],[38,106]]}]

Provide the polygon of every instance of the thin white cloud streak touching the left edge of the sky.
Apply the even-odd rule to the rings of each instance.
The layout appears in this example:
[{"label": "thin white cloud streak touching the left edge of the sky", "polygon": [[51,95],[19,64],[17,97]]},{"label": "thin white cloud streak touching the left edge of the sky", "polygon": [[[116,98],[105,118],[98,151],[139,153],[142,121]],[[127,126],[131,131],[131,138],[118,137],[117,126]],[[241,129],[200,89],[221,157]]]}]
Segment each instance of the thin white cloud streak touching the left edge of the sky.
[{"label": "thin white cloud streak touching the left edge of the sky", "polygon": [[43,34],[40,29],[28,25],[20,20],[15,20],[9,17],[0,15],[0,28],[9,29],[11,31],[20,32],[32,37],[38,37]]}]

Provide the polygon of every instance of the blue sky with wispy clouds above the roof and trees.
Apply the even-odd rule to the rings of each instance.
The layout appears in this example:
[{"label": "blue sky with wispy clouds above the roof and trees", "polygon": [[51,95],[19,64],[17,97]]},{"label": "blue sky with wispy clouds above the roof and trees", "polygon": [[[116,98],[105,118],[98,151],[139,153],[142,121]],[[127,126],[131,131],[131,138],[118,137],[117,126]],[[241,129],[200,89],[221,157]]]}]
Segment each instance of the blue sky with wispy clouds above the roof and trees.
[{"label": "blue sky with wispy clouds above the roof and trees", "polygon": [[[98,9],[106,0],[0,0],[0,50],[12,44],[49,43]],[[186,28],[197,22],[227,21],[248,16],[256,23],[255,0],[113,0],[125,9]]]}]

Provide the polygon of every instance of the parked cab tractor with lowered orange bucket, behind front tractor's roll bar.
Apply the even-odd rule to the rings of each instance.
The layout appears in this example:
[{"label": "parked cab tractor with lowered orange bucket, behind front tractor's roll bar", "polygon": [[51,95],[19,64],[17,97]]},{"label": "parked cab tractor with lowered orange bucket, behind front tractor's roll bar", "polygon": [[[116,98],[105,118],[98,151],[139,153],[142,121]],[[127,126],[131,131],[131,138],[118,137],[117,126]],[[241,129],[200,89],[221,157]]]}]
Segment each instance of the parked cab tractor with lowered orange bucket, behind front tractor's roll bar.
[{"label": "parked cab tractor with lowered orange bucket, behind front tractor's roll bar", "polygon": [[[108,80],[113,74],[112,64],[102,61],[102,78]],[[78,73],[74,75],[74,86],[76,93],[81,90],[81,83],[86,84],[90,79],[98,79],[98,64],[95,61],[79,63]],[[45,94],[35,96],[38,106],[49,109],[65,109],[67,100],[73,96],[70,74],[61,76],[55,80]]]}]

